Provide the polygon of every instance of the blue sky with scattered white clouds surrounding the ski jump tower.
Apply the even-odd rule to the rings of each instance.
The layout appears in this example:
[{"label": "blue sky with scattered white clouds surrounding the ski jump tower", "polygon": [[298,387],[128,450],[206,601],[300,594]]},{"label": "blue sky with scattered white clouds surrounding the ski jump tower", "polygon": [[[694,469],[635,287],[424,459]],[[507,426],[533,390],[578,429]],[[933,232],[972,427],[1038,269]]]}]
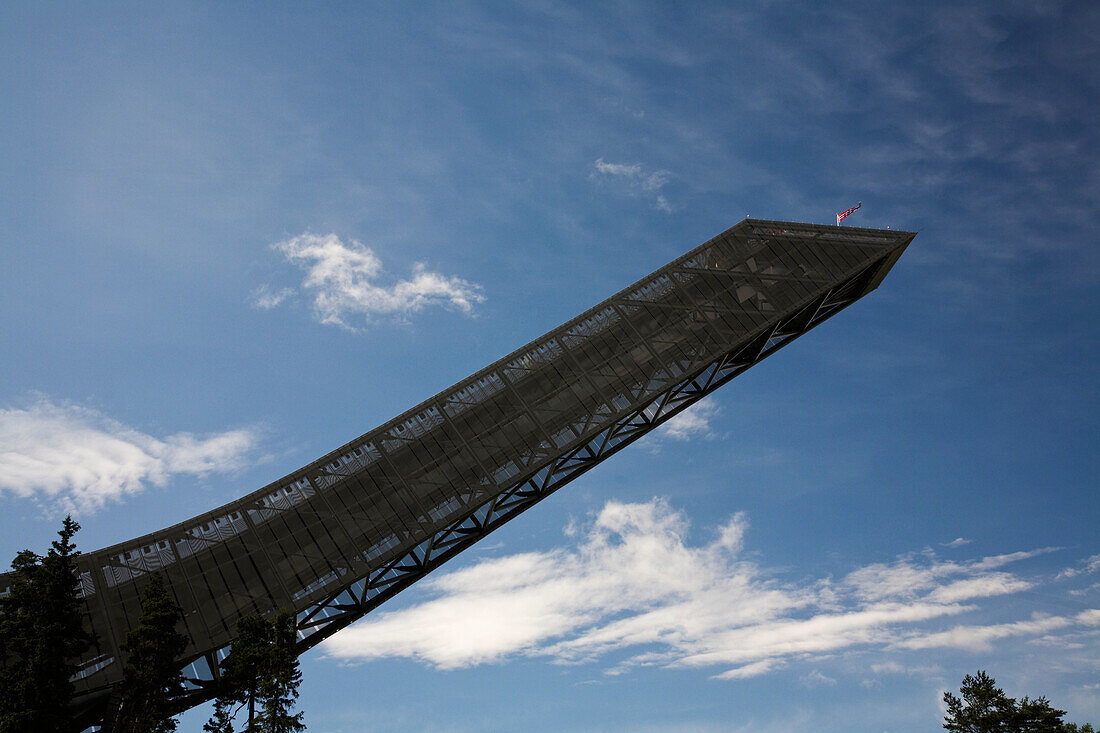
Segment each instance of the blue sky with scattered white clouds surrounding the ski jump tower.
[{"label": "blue sky with scattered white clouds surrounding the ski jump tower", "polygon": [[1098,48],[1088,2],[7,3],[0,553],[861,200],[920,231],[879,291],[307,654],[310,730],[927,731],[978,668],[1096,722]]}]

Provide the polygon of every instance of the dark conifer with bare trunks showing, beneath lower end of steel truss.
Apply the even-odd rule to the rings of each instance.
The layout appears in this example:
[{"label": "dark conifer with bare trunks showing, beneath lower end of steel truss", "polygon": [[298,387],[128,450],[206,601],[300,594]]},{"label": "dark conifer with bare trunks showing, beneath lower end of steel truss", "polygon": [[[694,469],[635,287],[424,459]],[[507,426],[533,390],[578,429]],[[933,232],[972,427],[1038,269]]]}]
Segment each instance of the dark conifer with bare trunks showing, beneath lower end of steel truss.
[{"label": "dark conifer with bare trunks showing, beneath lower end of steel truss", "polygon": [[213,715],[202,726],[209,733],[234,733],[233,723],[248,705],[242,733],[299,733],[302,713],[294,713],[301,671],[295,649],[297,630],[290,611],[271,620],[241,619],[237,639],[222,663]]}]

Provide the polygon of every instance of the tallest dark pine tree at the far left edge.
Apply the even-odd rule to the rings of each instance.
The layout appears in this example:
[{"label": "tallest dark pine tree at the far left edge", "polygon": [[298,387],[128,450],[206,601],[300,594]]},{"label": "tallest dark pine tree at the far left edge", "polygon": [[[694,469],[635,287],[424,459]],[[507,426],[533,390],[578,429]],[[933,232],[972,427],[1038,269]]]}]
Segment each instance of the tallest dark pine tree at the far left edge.
[{"label": "tallest dark pine tree at the far left edge", "polygon": [[72,679],[94,642],[77,579],[79,529],[66,516],[45,557],[23,550],[12,560],[11,588],[0,599],[0,733],[69,727]]}]

